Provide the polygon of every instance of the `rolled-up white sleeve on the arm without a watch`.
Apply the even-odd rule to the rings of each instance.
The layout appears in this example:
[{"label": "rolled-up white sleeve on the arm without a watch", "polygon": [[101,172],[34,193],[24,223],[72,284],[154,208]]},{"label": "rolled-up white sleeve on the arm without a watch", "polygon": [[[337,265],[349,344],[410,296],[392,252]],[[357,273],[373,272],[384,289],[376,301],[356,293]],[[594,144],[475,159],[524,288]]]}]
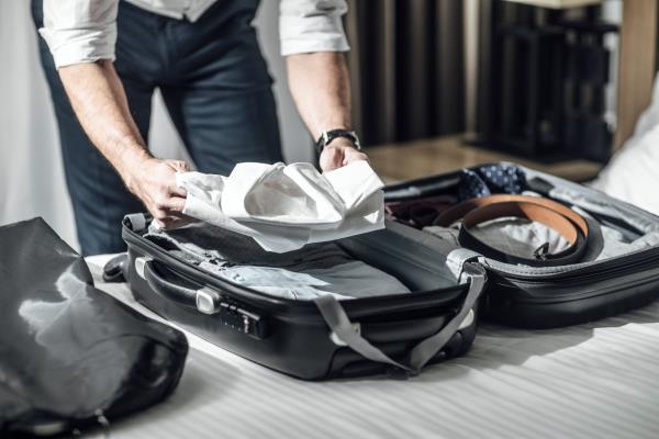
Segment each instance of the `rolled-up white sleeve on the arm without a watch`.
[{"label": "rolled-up white sleeve on the arm without a watch", "polygon": [[44,0],[44,37],[57,68],[114,60],[119,0]]}]

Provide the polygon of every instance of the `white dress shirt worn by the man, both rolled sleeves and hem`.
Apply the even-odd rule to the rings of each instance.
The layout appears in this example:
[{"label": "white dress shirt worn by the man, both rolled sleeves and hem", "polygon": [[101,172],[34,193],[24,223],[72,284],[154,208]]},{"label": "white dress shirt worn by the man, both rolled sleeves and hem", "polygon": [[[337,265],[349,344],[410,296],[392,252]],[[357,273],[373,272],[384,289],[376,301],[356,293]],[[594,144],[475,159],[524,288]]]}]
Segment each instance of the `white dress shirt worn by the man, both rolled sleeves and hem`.
[{"label": "white dress shirt worn by the man, both rolled sleeves and hem", "polygon": [[[120,0],[44,0],[44,27],[55,65],[114,60]],[[217,0],[125,0],[174,19],[198,20]],[[267,0],[271,1],[271,0]],[[281,55],[349,49],[345,0],[280,0]]]}]

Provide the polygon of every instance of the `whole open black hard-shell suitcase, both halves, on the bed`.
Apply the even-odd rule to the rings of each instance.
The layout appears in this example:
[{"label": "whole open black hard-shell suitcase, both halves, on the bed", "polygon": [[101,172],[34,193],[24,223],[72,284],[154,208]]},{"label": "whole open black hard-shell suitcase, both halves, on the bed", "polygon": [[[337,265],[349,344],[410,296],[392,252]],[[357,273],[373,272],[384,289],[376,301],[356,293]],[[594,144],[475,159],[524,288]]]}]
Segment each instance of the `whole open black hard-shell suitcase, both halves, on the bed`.
[{"label": "whole open black hard-shell suitcase, both halves, on the bed", "polygon": [[[559,178],[498,166],[521,177],[516,189],[585,212],[593,233],[606,226],[629,239],[659,237],[659,217],[640,209]],[[455,194],[465,172],[476,171],[391,185],[386,201]],[[338,244],[414,293],[323,303],[270,297],[217,279],[148,241],[145,233],[144,215],[124,218],[129,281],[137,301],[230,351],[310,380],[416,373],[426,363],[463,354],[479,314],[509,325],[556,327],[622,313],[659,295],[659,240],[604,260],[525,267],[388,221],[383,230]],[[602,239],[589,240],[589,251],[596,252],[591,247],[597,245]]]}]

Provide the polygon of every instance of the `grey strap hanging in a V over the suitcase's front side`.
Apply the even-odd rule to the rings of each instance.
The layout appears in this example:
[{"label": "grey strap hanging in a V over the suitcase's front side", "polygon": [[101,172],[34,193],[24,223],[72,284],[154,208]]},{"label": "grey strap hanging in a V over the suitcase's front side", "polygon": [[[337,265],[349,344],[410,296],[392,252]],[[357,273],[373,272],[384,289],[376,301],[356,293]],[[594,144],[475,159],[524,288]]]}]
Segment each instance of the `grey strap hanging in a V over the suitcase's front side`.
[{"label": "grey strap hanging in a V over the suitcase's front side", "polygon": [[356,331],[356,324],[350,322],[336,297],[327,294],[320,296],[314,302],[323,315],[325,323],[332,329],[334,337],[338,338],[343,344],[368,360],[391,364],[394,370],[402,371],[405,374],[417,374],[450,340],[465,318],[468,317],[476,305],[476,301],[483,291],[485,272],[482,267],[473,263],[465,263],[462,273],[469,279],[469,291],[460,311],[442,329],[410,349],[401,361],[393,360]]}]

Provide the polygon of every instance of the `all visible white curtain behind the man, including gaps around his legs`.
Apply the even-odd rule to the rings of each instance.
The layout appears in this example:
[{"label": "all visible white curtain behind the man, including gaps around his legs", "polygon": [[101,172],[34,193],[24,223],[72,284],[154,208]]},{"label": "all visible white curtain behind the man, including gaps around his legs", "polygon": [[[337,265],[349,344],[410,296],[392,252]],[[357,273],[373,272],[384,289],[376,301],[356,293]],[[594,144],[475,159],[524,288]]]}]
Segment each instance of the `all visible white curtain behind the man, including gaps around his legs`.
[{"label": "all visible white curtain behind the man, including gaps around his legs", "polygon": [[[277,36],[278,2],[264,1],[256,20],[275,93],[289,161],[312,158],[310,138],[286,86]],[[0,1],[0,225],[43,216],[77,247],[66,191],[57,126],[38,63],[29,0]],[[150,147],[158,157],[186,158],[167,112],[156,95]]]}]

